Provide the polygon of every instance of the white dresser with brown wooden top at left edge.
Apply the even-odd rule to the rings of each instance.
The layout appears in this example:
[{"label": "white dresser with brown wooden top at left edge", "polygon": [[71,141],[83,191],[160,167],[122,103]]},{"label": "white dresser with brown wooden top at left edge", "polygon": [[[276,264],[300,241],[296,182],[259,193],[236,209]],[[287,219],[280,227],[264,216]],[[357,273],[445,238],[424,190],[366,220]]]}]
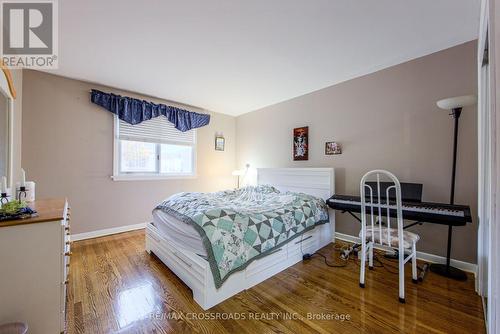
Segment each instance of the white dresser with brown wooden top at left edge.
[{"label": "white dresser with brown wooden top at left edge", "polygon": [[30,206],[38,217],[0,222],[0,324],[57,334],[65,331],[70,211],[65,199]]}]

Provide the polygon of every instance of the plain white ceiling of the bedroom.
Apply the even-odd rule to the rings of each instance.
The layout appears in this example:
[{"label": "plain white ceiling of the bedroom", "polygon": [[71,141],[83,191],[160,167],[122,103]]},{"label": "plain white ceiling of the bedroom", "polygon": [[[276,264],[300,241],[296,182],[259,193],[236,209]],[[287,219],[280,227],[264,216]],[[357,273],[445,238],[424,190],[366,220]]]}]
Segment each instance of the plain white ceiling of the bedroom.
[{"label": "plain white ceiling of the bedroom", "polygon": [[64,0],[56,74],[239,115],[477,38],[479,0]]}]

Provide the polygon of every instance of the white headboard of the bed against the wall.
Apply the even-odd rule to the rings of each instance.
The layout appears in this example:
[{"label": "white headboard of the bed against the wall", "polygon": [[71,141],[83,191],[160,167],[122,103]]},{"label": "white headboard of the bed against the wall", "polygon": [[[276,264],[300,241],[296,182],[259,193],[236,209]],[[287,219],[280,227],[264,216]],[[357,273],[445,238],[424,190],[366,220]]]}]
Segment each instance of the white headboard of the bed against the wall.
[{"label": "white headboard of the bed against the wall", "polygon": [[335,172],[333,168],[257,168],[257,184],[327,200],[335,193]]}]

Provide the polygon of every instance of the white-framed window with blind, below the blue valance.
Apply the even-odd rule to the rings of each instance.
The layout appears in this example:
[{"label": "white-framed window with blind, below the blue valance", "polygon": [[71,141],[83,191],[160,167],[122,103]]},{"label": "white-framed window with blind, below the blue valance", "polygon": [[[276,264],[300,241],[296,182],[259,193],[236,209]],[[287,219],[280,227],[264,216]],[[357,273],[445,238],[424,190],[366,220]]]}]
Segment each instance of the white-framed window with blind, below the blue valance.
[{"label": "white-framed window with blind, below the blue valance", "polygon": [[181,132],[164,116],[130,125],[115,116],[115,180],[195,175],[196,130]]}]

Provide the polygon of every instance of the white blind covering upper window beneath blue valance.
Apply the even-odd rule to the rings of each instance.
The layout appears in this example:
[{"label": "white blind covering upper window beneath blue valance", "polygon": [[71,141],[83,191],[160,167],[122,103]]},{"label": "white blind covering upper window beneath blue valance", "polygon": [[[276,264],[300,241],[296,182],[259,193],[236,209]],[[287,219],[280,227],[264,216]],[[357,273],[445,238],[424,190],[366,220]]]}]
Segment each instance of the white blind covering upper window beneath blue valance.
[{"label": "white blind covering upper window beneath blue valance", "polygon": [[195,143],[196,130],[181,132],[165,116],[155,117],[136,125],[120,120],[118,139],[189,145]]}]

